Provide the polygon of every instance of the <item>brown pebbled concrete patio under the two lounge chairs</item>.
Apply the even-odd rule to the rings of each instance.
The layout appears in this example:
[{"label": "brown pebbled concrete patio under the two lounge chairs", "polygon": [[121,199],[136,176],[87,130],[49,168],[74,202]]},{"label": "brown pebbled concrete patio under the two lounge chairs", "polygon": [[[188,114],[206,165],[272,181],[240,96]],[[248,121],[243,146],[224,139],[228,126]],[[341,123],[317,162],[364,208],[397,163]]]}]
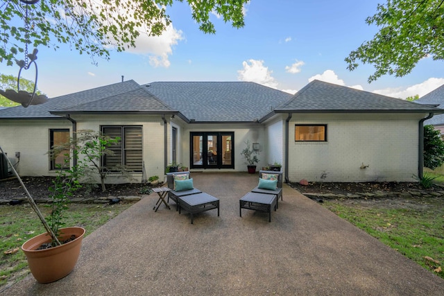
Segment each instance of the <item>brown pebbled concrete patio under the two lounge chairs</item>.
[{"label": "brown pebbled concrete patio under the two lounge chairs", "polygon": [[[70,275],[30,275],[3,295],[443,295],[444,280],[284,186],[268,214],[242,210],[247,173],[192,173],[216,210],[178,214],[147,195],[83,240]],[[171,202],[173,204],[173,202]]]}]

